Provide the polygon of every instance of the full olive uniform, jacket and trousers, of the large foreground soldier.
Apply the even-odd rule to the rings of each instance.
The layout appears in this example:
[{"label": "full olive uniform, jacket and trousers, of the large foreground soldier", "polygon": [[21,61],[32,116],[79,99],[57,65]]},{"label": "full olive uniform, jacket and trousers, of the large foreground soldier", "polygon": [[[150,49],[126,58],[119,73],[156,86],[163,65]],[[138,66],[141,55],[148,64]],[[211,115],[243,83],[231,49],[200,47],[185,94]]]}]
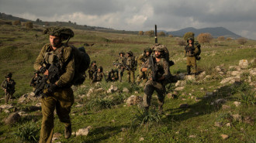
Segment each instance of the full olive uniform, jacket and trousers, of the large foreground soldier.
[{"label": "full olive uniform, jacket and trousers, of the large foreground soldier", "polygon": [[[50,34],[55,36],[55,33]],[[66,66],[64,73],[57,80],[57,88],[53,92],[47,92],[47,97],[42,97],[42,125],[40,131],[40,142],[51,142],[54,132],[54,110],[62,123],[65,125],[66,131],[71,131],[71,106],[74,104],[74,94],[71,89],[71,81],[74,77],[74,56],[71,56],[71,47],[61,43],[57,49],[53,49],[50,44],[46,44],[41,49],[39,56],[34,63],[34,69],[40,70],[40,66],[49,66],[49,64],[60,62]],[[57,61],[56,61],[57,59]],[[65,134],[66,138],[66,134]],[[69,137],[68,137],[69,138]]]}]

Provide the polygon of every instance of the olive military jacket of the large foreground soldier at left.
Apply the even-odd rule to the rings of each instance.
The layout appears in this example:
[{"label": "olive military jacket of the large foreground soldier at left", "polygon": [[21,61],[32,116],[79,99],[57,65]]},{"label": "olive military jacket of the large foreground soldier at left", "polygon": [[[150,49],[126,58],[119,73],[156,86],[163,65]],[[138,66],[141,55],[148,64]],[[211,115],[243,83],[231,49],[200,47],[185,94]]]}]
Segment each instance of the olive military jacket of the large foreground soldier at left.
[{"label": "olive military jacket of the large foreground soldier at left", "polygon": [[72,55],[71,51],[71,47],[64,46],[64,44],[55,50],[50,44],[46,44],[43,46],[39,56],[36,58],[34,69],[39,70],[40,66],[47,67],[49,64],[59,62],[64,71],[61,73],[59,80],[56,82],[57,86],[71,86],[71,81],[74,77],[74,56]]}]

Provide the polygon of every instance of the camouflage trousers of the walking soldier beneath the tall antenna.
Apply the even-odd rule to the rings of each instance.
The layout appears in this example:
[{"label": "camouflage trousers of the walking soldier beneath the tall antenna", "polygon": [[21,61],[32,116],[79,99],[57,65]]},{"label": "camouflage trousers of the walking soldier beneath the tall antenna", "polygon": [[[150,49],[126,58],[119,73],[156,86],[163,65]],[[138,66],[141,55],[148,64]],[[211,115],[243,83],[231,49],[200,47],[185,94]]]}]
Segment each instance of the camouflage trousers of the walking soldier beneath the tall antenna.
[{"label": "camouflage trousers of the walking soldier beneath the tall antenna", "polygon": [[157,103],[159,107],[162,107],[164,104],[165,97],[165,86],[163,83],[153,82],[153,80],[147,80],[147,83],[144,87],[144,97],[143,105],[144,107],[150,107],[151,97],[154,93],[154,90],[157,92]]}]

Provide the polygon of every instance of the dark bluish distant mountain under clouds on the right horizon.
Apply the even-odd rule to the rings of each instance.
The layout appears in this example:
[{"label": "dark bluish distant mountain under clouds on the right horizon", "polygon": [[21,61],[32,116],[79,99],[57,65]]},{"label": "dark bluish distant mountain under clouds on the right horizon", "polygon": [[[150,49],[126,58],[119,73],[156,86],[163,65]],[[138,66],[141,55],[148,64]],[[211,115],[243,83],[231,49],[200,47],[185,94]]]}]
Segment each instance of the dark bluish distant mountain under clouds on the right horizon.
[{"label": "dark bluish distant mountain under clouds on the right horizon", "polygon": [[188,27],[185,29],[180,29],[178,31],[172,31],[167,33],[171,34],[172,36],[184,36],[186,32],[194,32],[195,36],[198,36],[200,33],[203,33],[203,32],[209,32],[213,36],[213,38],[224,36],[224,37],[231,37],[231,38],[237,39],[241,37],[235,34],[234,32],[231,32],[230,30],[225,29],[223,27],[204,28],[204,29],[195,29],[193,27]]}]

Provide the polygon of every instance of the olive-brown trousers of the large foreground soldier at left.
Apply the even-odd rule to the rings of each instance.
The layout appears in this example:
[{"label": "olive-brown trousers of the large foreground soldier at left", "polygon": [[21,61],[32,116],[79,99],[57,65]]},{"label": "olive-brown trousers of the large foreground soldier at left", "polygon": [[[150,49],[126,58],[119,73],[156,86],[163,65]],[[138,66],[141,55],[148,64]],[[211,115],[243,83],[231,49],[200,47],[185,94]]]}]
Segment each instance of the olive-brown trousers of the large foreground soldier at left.
[{"label": "olive-brown trousers of the large foreground soldier at left", "polygon": [[71,106],[74,104],[74,94],[71,88],[57,89],[54,94],[42,97],[42,125],[40,131],[40,143],[51,142],[54,133],[54,110],[64,123],[65,127],[71,125]]}]

